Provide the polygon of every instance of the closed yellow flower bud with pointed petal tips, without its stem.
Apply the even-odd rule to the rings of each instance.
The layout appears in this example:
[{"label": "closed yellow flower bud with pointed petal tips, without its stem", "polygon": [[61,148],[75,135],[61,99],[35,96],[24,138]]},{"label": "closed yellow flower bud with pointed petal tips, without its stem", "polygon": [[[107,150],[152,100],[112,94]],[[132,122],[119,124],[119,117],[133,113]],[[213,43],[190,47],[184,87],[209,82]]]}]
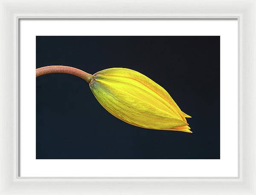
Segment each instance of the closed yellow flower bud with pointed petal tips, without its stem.
[{"label": "closed yellow flower bud with pointed petal tips, without its stem", "polygon": [[146,129],[192,133],[180,110],[163,87],[140,72],[111,68],[95,73],[90,89],[99,103],[112,115]]}]

